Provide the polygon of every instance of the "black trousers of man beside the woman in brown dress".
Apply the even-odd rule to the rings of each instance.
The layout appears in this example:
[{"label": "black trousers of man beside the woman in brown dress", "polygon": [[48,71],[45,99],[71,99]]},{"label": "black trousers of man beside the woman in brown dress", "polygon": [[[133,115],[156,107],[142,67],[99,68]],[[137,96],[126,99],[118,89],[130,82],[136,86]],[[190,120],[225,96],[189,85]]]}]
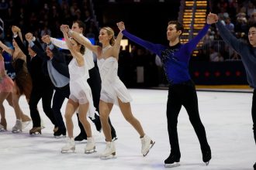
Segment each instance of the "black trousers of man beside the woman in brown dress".
[{"label": "black trousers of man beside the woman in brown dress", "polygon": [[33,121],[33,128],[34,127],[41,127],[41,119],[40,114],[37,110],[37,104],[39,103],[40,99],[42,99],[43,104],[43,112],[49,117],[51,123],[54,126],[57,125],[53,110],[51,109],[51,99],[53,97],[54,88],[53,87],[46,87],[46,88],[36,88],[33,87],[29,99],[29,109],[30,109],[30,116]]}]

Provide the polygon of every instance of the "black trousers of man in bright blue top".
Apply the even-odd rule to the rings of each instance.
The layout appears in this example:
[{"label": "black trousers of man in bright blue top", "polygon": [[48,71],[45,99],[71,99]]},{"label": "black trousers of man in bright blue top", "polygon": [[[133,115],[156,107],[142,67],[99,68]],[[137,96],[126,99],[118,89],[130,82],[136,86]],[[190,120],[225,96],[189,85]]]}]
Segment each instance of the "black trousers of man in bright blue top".
[{"label": "black trousers of man in bright blue top", "polygon": [[168,90],[168,102],[167,102],[167,121],[168,121],[168,134],[171,145],[171,152],[176,155],[180,155],[180,149],[178,145],[178,114],[182,108],[185,107],[189,114],[189,121],[191,122],[195,134],[199,139],[201,150],[206,151],[209,148],[206,131],[199,117],[198,99],[195,91],[195,85],[192,80],[185,83],[172,84]]}]

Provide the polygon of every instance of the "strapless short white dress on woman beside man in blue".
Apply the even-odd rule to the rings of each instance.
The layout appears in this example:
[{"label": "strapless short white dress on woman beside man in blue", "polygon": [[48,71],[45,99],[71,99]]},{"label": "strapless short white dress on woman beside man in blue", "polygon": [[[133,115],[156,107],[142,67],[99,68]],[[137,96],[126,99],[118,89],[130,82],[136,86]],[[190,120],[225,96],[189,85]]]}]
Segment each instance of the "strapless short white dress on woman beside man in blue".
[{"label": "strapless short white dress on woman beside man in blue", "polygon": [[115,57],[97,59],[99,73],[102,79],[102,90],[100,99],[106,103],[118,104],[118,99],[123,103],[132,100],[129,91],[117,75],[118,62]]}]

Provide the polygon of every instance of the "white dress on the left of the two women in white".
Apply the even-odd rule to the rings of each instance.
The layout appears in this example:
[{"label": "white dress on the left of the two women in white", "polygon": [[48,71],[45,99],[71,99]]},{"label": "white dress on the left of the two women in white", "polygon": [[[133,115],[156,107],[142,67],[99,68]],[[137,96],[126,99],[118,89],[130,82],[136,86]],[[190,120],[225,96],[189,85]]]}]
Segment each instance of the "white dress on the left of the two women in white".
[{"label": "white dress on the left of the two women in white", "polygon": [[71,90],[69,98],[79,104],[89,103],[87,116],[94,119],[95,107],[92,100],[92,90],[87,83],[90,76],[86,64],[84,66],[78,66],[77,60],[73,58],[68,64],[68,69],[70,74],[69,85]]}]

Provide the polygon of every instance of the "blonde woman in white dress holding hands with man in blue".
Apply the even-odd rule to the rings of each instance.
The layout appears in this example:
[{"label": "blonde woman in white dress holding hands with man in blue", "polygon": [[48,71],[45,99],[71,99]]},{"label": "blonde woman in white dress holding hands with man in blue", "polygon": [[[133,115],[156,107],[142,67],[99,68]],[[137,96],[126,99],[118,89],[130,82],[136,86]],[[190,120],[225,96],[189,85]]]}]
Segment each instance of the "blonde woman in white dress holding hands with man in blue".
[{"label": "blonde woman in white dress holding hands with man in blue", "polygon": [[146,156],[150,148],[154,145],[154,141],[144,133],[140,121],[133,116],[130,107],[132,98],[123,82],[119,80],[119,76],[117,76],[120,42],[123,37],[122,32],[119,32],[115,40],[114,32],[111,28],[103,27],[100,29],[99,42],[102,43],[102,46],[93,46],[91,43],[81,39],[81,36],[79,36],[78,33],[72,32],[71,30],[69,31],[69,35],[88,49],[91,49],[97,56],[99,73],[102,79],[99,112],[102,130],[106,137],[106,150],[102,152],[100,158],[108,159],[116,155],[116,148],[114,141],[112,141],[108,122],[113,104],[119,106],[123,117],[125,117],[126,121],[128,121],[140,134],[142,144],[141,153]]}]

